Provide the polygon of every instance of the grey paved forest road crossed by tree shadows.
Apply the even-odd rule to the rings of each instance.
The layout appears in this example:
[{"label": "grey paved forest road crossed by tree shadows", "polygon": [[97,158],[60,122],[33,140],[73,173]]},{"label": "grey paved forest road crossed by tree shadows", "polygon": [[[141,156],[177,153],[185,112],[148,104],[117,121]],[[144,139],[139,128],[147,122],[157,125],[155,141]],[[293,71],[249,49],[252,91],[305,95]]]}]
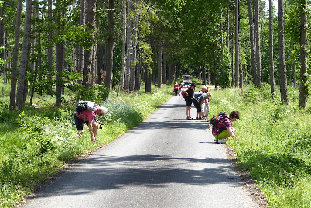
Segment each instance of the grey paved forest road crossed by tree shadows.
[{"label": "grey paved forest road crossed by tree shadows", "polygon": [[22,207],[259,207],[225,159],[224,144],[205,131],[207,121],[185,115],[182,96],[172,96]]}]

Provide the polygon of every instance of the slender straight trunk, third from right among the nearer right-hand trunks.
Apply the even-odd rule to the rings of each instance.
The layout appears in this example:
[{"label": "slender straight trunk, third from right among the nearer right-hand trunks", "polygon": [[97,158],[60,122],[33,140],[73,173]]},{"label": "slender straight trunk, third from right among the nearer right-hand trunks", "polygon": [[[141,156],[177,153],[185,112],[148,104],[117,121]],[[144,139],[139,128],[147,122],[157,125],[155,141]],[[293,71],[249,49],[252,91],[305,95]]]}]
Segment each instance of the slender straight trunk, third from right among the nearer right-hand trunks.
[{"label": "slender straight trunk, third from right among the nearer right-hand trunks", "polygon": [[275,92],[272,17],[272,0],[269,0],[269,62],[271,94]]}]

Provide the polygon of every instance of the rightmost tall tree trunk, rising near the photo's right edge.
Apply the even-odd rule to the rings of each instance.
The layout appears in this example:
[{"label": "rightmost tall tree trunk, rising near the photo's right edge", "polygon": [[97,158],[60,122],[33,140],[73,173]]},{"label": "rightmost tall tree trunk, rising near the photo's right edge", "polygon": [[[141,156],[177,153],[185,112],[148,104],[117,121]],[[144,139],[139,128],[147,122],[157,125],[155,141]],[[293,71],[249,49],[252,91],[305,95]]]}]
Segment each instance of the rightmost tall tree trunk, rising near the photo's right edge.
[{"label": "rightmost tall tree trunk, rising near the photo's right edge", "polygon": [[299,107],[307,108],[308,86],[305,84],[307,79],[304,76],[307,73],[307,0],[302,0],[300,5],[300,87],[299,87]]}]

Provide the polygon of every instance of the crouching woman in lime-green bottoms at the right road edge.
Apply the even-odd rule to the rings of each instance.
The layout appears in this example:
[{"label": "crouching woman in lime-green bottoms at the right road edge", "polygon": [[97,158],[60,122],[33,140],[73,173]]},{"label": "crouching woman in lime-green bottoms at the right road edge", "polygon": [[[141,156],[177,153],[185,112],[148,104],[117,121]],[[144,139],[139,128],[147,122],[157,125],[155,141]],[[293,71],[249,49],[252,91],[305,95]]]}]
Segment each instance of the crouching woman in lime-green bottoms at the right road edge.
[{"label": "crouching woman in lime-green bottoms at the right road edge", "polygon": [[226,114],[223,119],[220,119],[217,123],[217,127],[213,126],[212,128],[212,135],[215,137],[214,141],[219,143],[226,143],[226,140],[228,137],[232,136],[233,138],[236,138],[234,135],[235,129],[232,128],[231,121],[236,121],[240,118],[239,111],[232,111],[230,115]]}]

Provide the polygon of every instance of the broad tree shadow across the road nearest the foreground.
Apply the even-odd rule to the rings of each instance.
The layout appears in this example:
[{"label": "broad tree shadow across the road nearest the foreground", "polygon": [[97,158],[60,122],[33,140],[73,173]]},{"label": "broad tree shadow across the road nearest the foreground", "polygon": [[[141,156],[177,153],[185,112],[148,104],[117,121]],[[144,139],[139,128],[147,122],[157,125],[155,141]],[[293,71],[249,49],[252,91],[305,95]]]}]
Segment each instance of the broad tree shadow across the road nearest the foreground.
[{"label": "broad tree shadow across the road nearest the foreground", "polygon": [[[193,168],[204,163],[219,163],[221,166]],[[170,155],[116,157],[95,154],[72,167],[39,197],[86,194],[96,190],[122,189],[125,186],[158,188],[166,187],[169,183],[201,186],[228,183],[240,186],[238,180],[232,180],[234,173],[228,170],[231,170],[230,162],[222,158],[178,158]]]}]

